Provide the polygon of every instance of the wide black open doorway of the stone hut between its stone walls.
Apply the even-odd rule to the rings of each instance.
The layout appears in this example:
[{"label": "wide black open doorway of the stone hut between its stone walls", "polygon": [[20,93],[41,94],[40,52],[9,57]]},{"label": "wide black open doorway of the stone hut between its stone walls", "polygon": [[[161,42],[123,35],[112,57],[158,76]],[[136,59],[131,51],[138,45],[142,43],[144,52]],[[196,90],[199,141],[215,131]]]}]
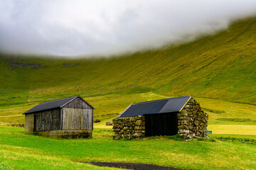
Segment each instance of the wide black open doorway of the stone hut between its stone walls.
[{"label": "wide black open doorway of the stone hut between its stone walls", "polygon": [[145,115],[145,135],[176,135],[178,133],[177,113],[157,113]]}]

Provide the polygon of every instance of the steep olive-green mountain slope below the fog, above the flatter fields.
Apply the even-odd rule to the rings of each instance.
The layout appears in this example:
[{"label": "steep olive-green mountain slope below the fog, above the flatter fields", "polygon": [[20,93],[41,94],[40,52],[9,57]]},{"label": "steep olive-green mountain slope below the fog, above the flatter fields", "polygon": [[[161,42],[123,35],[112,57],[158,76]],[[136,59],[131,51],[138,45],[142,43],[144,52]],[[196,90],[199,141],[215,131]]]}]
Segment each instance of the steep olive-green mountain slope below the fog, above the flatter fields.
[{"label": "steep olive-green mountain slope below the fog, above the flatter fields", "polygon": [[[47,89],[53,87],[55,91],[73,94],[73,90],[81,88],[85,93],[93,93],[150,86],[149,89],[163,94],[193,94],[256,103],[253,95],[256,92],[255,21],[255,18],[239,21],[228,30],[177,47],[111,59],[3,56],[1,94],[10,90],[10,85],[12,91],[28,90],[32,94],[33,91],[47,94]],[[23,64],[23,68],[10,67],[15,63]],[[21,64],[16,67],[22,67]],[[33,68],[36,64],[41,67]],[[63,86],[68,89],[62,89]]]}]

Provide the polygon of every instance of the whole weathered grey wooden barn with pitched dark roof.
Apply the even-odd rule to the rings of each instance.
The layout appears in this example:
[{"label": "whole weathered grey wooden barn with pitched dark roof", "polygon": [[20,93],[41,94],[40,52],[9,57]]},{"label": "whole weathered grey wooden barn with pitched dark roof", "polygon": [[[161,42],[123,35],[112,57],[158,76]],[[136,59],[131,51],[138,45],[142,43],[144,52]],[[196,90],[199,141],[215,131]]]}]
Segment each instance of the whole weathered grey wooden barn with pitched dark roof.
[{"label": "whole weathered grey wooden barn with pitched dark roof", "polygon": [[40,103],[23,113],[25,131],[50,137],[92,137],[93,109],[80,96]]}]

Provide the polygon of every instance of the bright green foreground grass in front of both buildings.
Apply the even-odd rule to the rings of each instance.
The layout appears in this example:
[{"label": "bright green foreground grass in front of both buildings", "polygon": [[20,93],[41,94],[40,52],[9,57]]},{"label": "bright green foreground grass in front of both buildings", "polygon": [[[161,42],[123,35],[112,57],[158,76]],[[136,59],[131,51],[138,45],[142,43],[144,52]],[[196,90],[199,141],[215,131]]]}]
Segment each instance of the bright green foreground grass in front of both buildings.
[{"label": "bright green foreground grass in front of both buildings", "polygon": [[138,162],[183,169],[256,166],[256,147],[252,144],[222,140],[186,142],[168,137],[112,140],[102,137],[104,130],[95,131],[97,135],[92,139],[63,140],[31,135],[23,128],[0,126],[0,161],[12,169],[109,169],[73,161]]}]

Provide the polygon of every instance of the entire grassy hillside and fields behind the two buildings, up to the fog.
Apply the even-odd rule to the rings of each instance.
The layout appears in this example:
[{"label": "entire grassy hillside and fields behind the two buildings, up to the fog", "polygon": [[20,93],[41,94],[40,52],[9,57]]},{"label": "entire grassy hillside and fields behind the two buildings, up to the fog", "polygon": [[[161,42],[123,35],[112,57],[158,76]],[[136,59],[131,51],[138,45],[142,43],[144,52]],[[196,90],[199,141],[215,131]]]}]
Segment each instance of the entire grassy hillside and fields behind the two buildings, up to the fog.
[{"label": "entire grassy hillside and fields behind the two buildings, up to the fog", "polygon": [[[57,60],[2,54],[0,121],[23,121],[20,114],[37,103],[76,94],[92,103],[95,116],[104,119],[115,117],[130,103],[188,94],[256,104],[255,22],[256,18],[248,18],[183,45],[112,58]],[[211,109],[223,101],[215,101]],[[202,107],[209,109],[207,105]],[[235,117],[209,113],[215,125],[255,125],[255,115],[246,115],[250,109]]]}]

